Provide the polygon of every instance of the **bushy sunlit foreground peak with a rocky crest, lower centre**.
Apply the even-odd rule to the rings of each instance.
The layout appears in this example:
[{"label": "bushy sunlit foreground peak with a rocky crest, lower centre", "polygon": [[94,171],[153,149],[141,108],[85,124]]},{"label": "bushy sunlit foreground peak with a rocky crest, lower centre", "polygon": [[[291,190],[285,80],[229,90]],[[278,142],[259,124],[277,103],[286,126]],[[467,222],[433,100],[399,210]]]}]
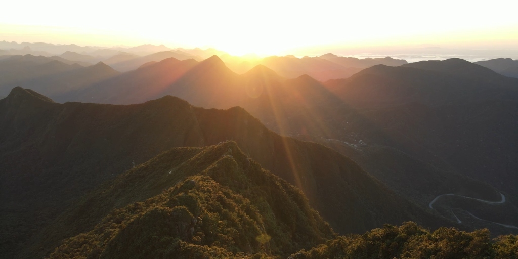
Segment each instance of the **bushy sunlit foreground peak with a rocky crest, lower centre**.
[{"label": "bushy sunlit foreground peak with a rocky crest, lower centre", "polygon": [[202,251],[286,257],[333,236],[299,190],[250,161],[235,142],[164,152],[105,183],[63,219],[86,231],[50,258],[178,258]]}]

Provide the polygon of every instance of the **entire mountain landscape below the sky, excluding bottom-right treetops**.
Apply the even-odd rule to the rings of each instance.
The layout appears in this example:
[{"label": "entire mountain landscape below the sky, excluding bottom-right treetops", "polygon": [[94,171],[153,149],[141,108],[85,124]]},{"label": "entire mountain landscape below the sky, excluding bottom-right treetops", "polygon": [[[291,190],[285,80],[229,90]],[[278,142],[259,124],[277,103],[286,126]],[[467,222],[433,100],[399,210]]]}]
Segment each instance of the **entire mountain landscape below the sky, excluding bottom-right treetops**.
[{"label": "entire mountain landscape below the sky, excluding bottom-right treetops", "polygon": [[0,56],[0,255],[509,255],[476,229],[518,233],[512,60],[157,48]]}]

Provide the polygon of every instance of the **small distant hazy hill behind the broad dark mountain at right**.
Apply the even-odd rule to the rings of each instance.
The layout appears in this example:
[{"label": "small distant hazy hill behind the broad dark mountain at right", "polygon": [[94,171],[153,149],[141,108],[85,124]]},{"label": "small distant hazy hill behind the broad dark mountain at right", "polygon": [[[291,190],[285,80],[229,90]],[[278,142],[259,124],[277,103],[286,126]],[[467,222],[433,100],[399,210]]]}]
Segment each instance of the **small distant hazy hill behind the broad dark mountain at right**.
[{"label": "small distant hazy hill behind the broad dark mountain at right", "polygon": [[372,59],[370,57],[367,57],[366,59],[357,59],[356,57],[337,56],[333,53],[327,53],[319,57],[321,59],[339,64],[343,67],[367,68],[375,65],[400,66],[407,64],[406,60],[396,60],[390,56],[376,59]]}]

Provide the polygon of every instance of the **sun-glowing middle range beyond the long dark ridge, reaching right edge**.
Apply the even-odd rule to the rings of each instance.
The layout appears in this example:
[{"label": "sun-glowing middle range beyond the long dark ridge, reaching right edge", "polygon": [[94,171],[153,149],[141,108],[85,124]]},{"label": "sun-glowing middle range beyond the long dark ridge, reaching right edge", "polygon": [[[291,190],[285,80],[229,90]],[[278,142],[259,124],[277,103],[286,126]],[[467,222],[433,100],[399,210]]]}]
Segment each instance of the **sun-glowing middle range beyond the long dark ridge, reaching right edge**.
[{"label": "sun-glowing middle range beyond the long dark ridge, reaching right edge", "polygon": [[[353,157],[370,174],[423,208],[443,194],[440,190],[498,200],[498,192],[483,182],[515,192],[515,178],[508,177],[509,171],[495,170],[501,165],[515,166],[496,150],[515,152],[516,80],[490,69],[459,59],[378,65],[325,84],[309,76],[284,79],[265,66],[237,75],[217,56],[192,62],[190,69],[171,66],[169,73],[178,77],[145,70],[166,71],[166,64],[137,69],[121,83],[98,84],[90,92],[93,95],[87,88],[76,100],[130,104],[169,94],[206,108],[241,106],[271,130]],[[155,80],[146,80],[143,75],[148,74]],[[170,79],[156,80],[160,78]],[[394,157],[401,163],[373,163],[379,157]],[[424,185],[410,180],[415,179],[416,170],[423,172],[417,178]],[[394,174],[388,174],[391,171]],[[442,187],[431,188],[426,182]],[[509,211],[515,213],[515,209]]]}]

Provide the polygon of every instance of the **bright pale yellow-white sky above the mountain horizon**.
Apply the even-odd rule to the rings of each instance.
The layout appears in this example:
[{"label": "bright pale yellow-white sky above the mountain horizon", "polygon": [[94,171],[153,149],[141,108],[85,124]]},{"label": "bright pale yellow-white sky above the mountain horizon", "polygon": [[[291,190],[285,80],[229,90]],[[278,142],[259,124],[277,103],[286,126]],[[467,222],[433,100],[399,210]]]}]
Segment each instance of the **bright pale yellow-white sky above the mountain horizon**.
[{"label": "bright pale yellow-white sky above the mountain horizon", "polygon": [[518,1],[6,1],[0,40],[165,44],[231,54],[441,46],[518,49]]}]

